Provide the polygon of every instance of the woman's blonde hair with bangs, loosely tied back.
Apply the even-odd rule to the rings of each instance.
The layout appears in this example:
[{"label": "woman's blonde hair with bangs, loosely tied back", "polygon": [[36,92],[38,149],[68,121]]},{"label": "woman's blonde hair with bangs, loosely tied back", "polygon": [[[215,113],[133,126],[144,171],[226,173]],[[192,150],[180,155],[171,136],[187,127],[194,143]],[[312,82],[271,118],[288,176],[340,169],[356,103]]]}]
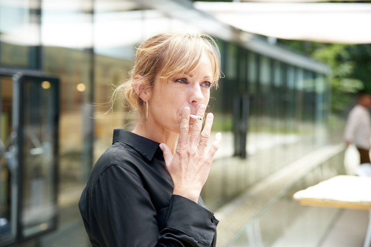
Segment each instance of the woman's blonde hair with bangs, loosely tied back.
[{"label": "woman's blonde hair with bangs, loosely tied back", "polygon": [[[220,78],[220,53],[215,40],[209,35],[166,32],[142,41],[136,48],[130,78],[115,88],[111,105],[117,95],[121,95],[132,109],[142,115],[145,102],[140,99],[140,92],[135,92],[134,85],[142,84],[141,92],[151,93],[156,76],[168,79],[175,74],[192,74],[200,64],[202,55],[210,59],[212,86],[217,87]],[[136,77],[137,75],[140,77]]]}]

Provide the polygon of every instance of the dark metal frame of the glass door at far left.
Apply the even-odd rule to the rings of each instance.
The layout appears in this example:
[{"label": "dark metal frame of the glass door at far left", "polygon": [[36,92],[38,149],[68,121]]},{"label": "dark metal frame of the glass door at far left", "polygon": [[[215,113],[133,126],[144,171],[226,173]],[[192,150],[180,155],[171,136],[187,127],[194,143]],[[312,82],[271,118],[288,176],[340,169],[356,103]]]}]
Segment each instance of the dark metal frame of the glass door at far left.
[{"label": "dark metal frame of the glass door at far left", "polygon": [[57,205],[57,195],[58,195],[58,118],[59,118],[59,78],[42,73],[39,71],[32,70],[17,70],[17,69],[4,69],[0,68],[0,75],[12,76],[13,77],[13,109],[17,109],[12,116],[12,128],[13,131],[16,131],[17,135],[15,138],[15,143],[17,147],[15,148],[15,153],[13,160],[15,162],[16,174],[13,174],[14,178],[12,181],[12,205],[16,205],[11,211],[12,215],[12,237],[0,241],[0,246],[7,246],[13,243],[22,243],[32,238],[44,235],[51,231],[54,231],[57,228],[57,217],[58,212],[52,218],[52,226],[47,230],[41,231],[39,233],[24,237],[22,235],[23,226],[22,226],[22,199],[23,199],[23,126],[24,126],[24,81],[25,79],[40,79],[48,80],[51,83],[56,84],[57,93],[55,95],[55,107],[56,107],[56,119],[54,120],[55,136],[54,136],[54,170],[53,170],[53,201]]}]

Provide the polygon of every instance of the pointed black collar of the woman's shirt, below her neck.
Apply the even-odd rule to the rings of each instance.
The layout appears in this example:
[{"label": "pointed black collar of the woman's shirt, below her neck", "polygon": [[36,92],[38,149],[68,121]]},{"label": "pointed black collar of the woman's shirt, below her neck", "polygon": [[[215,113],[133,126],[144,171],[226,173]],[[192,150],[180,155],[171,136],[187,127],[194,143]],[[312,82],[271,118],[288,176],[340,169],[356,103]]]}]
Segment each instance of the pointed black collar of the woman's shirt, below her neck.
[{"label": "pointed black collar of the woman's shirt, below her neck", "polygon": [[112,144],[114,144],[115,142],[121,142],[129,145],[135,151],[145,156],[149,161],[152,160],[153,155],[158,148],[158,145],[160,145],[158,142],[138,136],[137,134],[125,129],[113,130]]}]

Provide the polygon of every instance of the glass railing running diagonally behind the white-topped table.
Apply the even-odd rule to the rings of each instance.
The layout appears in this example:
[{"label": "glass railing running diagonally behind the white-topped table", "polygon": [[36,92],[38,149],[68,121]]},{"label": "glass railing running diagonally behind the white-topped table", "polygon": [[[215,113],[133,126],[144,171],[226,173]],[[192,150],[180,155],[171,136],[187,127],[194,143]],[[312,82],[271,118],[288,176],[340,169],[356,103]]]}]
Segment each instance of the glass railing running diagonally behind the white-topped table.
[{"label": "glass railing running diagonally behind the white-topped table", "polygon": [[318,246],[341,209],[301,206],[293,194],[344,174],[344,152],[283,189],[228,242],[228,247]]}]

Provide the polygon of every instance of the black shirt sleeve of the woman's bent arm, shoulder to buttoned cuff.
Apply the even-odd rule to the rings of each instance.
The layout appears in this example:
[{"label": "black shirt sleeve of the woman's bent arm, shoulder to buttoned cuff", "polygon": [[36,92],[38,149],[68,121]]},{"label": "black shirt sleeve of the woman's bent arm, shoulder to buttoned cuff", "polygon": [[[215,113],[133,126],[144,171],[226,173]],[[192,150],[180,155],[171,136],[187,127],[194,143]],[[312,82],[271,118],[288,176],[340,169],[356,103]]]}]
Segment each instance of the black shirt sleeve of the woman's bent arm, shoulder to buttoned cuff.
[{"label": "black shirt sleeve of the woman's bent arm, shoulder to buttoned cuff", "polygon": [[173,195],[164,228],[145,185],[133,172],[117,165],[107,168],[91,194],[90,226],[101,246],[211,246],[218,220],[185,197]]}]

